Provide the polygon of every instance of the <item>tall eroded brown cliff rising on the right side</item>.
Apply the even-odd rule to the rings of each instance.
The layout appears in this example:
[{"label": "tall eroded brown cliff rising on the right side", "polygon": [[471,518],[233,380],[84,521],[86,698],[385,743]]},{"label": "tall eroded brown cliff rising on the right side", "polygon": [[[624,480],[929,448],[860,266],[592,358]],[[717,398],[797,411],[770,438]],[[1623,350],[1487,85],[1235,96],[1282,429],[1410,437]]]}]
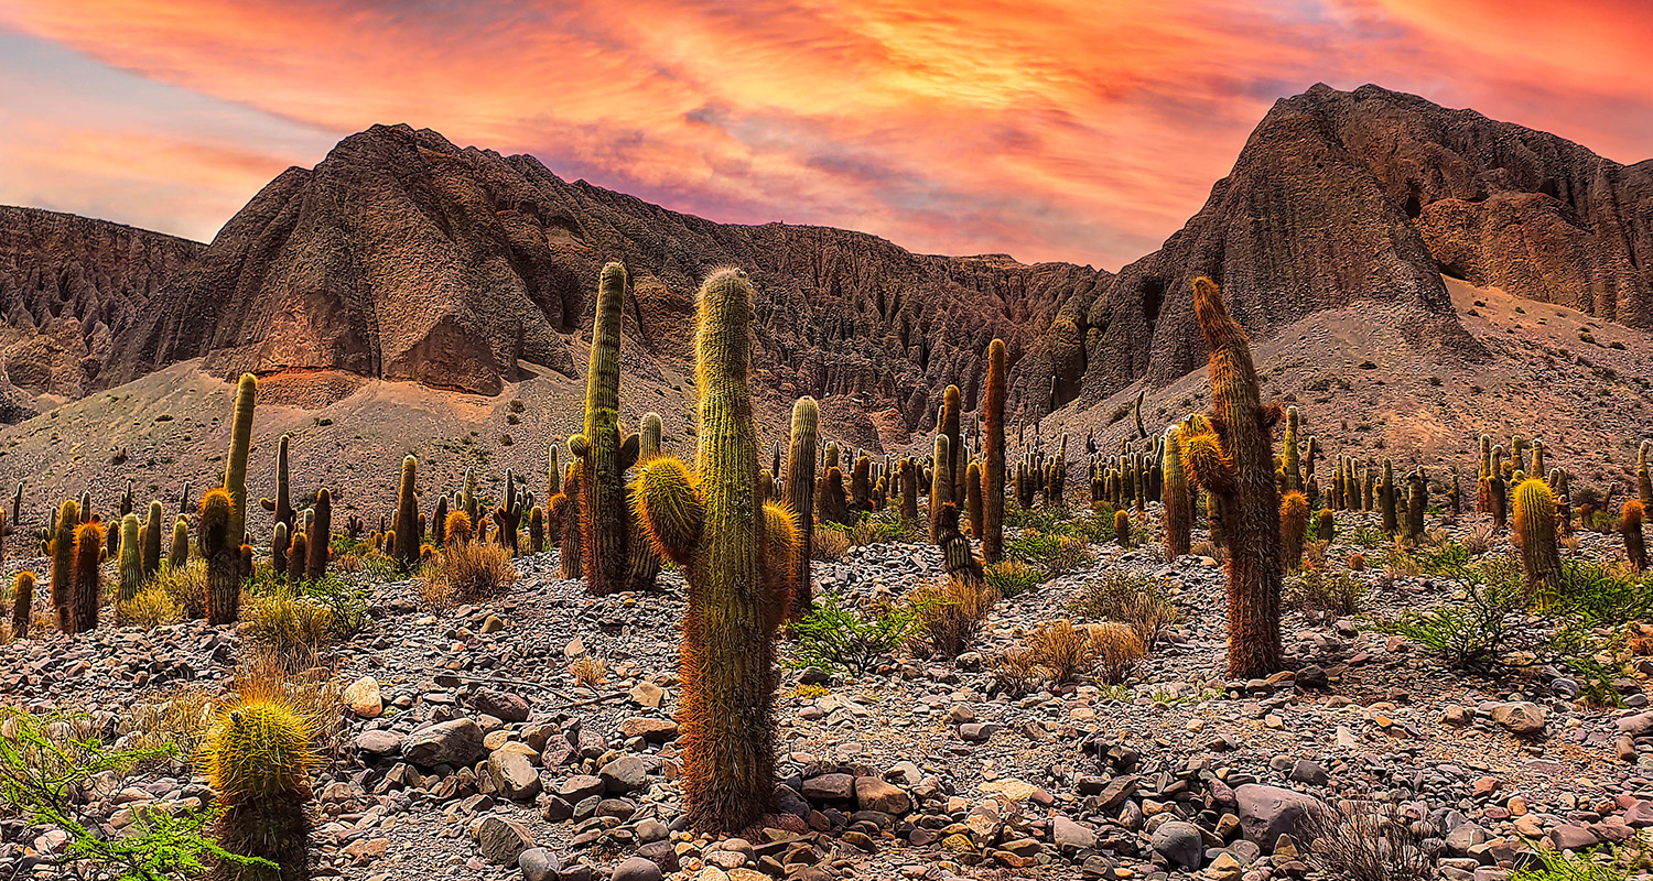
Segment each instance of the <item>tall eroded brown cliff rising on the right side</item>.
[{"label": "tall eroded brown cliff rising on the right side", "polygon": [[[1278,101],[1164,248],[1069,299],[1025,370],[1060,400],[1165,385],[1203,364],[1190,283],[1223,284],[1255,334],[1385,301],[1415,345],[1481,359],[1440,274],[1653,324],[1653,162],[1364,86]],[[1141,340],[1147,340],[1146,344]]]}]

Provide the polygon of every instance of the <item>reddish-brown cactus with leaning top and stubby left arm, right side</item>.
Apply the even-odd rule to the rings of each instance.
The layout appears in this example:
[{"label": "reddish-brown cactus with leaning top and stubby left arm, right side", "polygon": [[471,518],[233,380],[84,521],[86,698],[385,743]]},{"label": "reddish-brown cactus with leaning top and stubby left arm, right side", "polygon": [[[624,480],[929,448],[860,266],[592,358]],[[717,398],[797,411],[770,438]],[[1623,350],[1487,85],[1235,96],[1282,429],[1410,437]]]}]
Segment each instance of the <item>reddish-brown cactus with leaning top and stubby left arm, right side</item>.
[{"label": "reddish-brown cactus with leaning top and stubby left arm, right side", "polygon": [[1228,676],[1279,669],[1279,488],[1245,331],[1208,278],[1193,279],[1193,314],[1210,350],[1213,431],[1184,441],[1182,466],[1212,496],[1228,545]]}]

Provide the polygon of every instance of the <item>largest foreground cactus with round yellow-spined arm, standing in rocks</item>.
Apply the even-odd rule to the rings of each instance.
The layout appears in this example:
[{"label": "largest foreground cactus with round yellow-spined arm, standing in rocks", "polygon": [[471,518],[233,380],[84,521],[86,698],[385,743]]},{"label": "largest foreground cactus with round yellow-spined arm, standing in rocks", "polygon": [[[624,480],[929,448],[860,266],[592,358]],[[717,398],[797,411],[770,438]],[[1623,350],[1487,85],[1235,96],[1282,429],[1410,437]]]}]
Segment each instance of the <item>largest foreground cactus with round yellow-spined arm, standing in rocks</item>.
[{"label": "largest foreground cactus with round yellow-spined arm, standing in rocks", "polygon": [[684,810],[703,831],[742,830],[775,795],[774,635],[790,605],[797,527],[755,498],[750,326],[746,273],[714,273],[699,294],[696,473],[660,456],[633,489],[650,541],[689,583],[678,719]]}]

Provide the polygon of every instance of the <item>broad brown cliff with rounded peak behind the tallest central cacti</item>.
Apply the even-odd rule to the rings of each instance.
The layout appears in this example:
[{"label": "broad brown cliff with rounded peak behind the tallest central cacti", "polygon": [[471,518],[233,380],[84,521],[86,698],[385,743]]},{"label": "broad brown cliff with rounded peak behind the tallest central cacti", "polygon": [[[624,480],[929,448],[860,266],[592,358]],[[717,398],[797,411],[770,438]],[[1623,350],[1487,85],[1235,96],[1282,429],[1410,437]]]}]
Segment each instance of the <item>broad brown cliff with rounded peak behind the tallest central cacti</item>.
[{"label": "broad brown cliff with rounded peak behind the tallest central cacti", "polygon": [[220,375],[334,369],[496,393],[519,362],[582,364],[570,344],[608,260],[631,271],[626,332],[648,355],[684,360],[699,279],[739,264],[760,294],[767,387],[851,395],[909,428],[947,383],[974,397],[993,336],[1015,359],[1060,302],[1108,278],[709,223],[567,183],[532,157],[375,126],[258,193],[121,336],[109,382],[203,357]]}]

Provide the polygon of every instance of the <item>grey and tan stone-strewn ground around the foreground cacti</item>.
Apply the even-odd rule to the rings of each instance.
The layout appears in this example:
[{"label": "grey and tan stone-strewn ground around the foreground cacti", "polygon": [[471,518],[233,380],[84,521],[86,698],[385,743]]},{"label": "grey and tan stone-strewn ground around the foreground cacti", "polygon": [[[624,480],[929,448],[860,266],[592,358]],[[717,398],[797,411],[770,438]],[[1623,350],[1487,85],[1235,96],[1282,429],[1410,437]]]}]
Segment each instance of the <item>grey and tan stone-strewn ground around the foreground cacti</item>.
[{"label": "grey and tan stone-strewn ground around the foreground cacti", "polygon": [[[1150,527],[1154,519],[1141,517]],[[1341,514],[1326,557],[1374,567],[1362,613],[1286,618],[1288,668],[1225,681],[1222,569],[1157,545],[1093,545],[1094,562],[1002,600],[957,661],[901,653],[879,671],[788,669],[777,704],[780,813],[741,840],[684,830],[674,782],[681,579],[588,597],[555,552],[478,605],[430,612],[415,582],[367,583],[372,623],[327,658],[344,688],[337,749],[314,780],[317,876],[498,878],[1164,878],[1308,873],[1291,831],[1309,798],[1379,797],[1427,826],[1445,878],[1496,881],[1529,841],[1582,850],[1653,825],[1653,714],[1645,673],[1625,709],[1590,709],[1559,669],[1476,678],[1374,621],[1448,602],[1450,579],[1400,575],[1362,547],[1369,514]],[[1450,529],[1468,536],[1479,517]],[[1197,536],[1198,537],[1198,536]],[[1496,539],[1489,554],[1506,554]],[[1610,559],[1617,539],[1575,554]],[[17,565],[45,569],[46,560]],[[851,549],[818,562],[822,588],[899,595],[939,570],[929,545]],[[1003,694],[990,660],[1114,572],[1160,579],[1180,623],[1124,688]],[[104,626],[0,648],[0,694],[84,711],[109,732],[134,707],[223,684],[246,641],[198,621]],[[580,686],[574,660],[607,664]],[[347,686],[347,688],[345,688]],[[109,826],[144,803],[203,803],[187,760],[106,780]],[[1420,828],[1423,828],[1420,826]],[[53,830],[0,821],[0,868],[64,878]],[[1433,841],[1428,841],[1433,840]],[[641,858],[641,860],[638,860]]]}]

